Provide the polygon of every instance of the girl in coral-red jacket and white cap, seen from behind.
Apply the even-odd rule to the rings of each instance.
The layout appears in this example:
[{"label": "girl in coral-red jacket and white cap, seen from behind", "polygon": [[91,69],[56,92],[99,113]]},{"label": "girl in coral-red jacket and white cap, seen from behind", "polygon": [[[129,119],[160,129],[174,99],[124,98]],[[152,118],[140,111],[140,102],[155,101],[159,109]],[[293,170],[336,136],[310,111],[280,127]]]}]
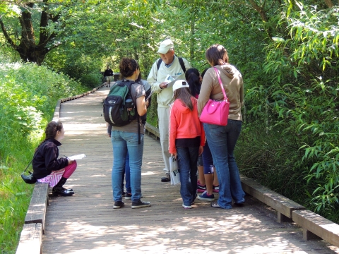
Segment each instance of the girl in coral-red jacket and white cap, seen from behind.
[{"label": "girl in coral-red jacket and white cap, seen from behind", "polygon": [[197,161],[203,152],[205,133],[198,118],[197,100],[189,92],[186,80],[173,85],[174,102],[169,107],[169,153],[177,157],[180,169],[180,195],[185,209],[196,198]]}]

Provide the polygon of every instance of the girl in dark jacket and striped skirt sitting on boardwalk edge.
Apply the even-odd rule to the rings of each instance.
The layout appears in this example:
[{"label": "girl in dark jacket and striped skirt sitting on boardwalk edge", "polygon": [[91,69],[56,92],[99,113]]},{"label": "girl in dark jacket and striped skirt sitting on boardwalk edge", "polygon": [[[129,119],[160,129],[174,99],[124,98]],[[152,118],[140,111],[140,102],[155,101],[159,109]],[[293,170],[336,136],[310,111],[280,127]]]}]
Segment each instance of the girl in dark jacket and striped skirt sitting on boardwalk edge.
[{"label": "girl in dark jacket and striped skirt sitting on boardwalk edge", "polygon": [[44,131],[46,138],[37,147],[32,161],[33,176],[40,183],[49,183],[52,187],[53,195],[69,196],[73,195],[72,189],[62,186],[76,170],[76,160],[59,157],[60,141],[64,138],[64,128],[62,123],[51,121]]}]

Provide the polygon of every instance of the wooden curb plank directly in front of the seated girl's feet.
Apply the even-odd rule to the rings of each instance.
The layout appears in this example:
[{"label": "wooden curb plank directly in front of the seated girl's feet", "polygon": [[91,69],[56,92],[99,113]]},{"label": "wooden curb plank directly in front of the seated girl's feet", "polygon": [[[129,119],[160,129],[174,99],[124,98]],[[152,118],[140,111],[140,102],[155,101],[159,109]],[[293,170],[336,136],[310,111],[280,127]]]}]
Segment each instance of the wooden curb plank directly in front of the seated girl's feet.
[{"label": "wooden curb plank directly in front of the seated girl's feet", "polygon": [[35,183],[35,187],[30,200],[30,206],[25,217],[25,224],[42,224],[42,232],[44,233],[44,220],[46,217],[46,209],[48,205],[48,183]]}]

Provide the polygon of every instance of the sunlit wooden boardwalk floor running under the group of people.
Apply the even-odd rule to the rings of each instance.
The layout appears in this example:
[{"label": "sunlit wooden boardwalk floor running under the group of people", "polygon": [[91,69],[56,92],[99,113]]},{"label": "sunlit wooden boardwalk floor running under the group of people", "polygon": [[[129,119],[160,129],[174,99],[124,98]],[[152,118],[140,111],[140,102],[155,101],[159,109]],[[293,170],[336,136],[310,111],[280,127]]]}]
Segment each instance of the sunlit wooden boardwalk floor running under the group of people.
[{"label": "sunlit wooden boardwalk floor running under the group of people", "polygon": [[108,88],[61,104],[65,139],[60,154],[85,153],[65,187],[72,197],[50,197],[43,253],[339,253],[326,241],[304,241],[295,224],[279,224],[275,211],[246,196],[232,210],[196,201],[182,208],[179,186],[161,183],[158,140],[145,135],[143,200],[151,207],[113,210],[112,143],[105,135],[102,99]]}]

